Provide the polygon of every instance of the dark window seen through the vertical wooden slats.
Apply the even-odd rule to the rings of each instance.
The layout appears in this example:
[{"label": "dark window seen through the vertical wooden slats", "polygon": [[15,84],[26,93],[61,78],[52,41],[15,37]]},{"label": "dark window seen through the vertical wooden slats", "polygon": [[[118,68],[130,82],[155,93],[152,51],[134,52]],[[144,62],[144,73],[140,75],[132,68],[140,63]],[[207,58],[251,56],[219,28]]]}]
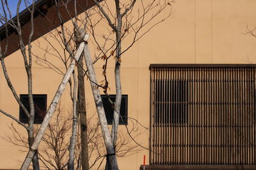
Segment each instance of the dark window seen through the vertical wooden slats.
[{"label": "dark window seen through the vertical wooden slats", "polygon": [[156,80],[156,123],[186,124],[188,88],[184,80]]}]

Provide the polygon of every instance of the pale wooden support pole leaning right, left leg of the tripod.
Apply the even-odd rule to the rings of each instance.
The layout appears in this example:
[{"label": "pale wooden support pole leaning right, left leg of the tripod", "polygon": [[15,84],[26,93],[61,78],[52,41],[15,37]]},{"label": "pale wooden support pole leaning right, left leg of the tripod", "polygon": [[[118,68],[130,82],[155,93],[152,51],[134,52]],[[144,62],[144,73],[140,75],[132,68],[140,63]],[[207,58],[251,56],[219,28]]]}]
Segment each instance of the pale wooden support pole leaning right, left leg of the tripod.
[{"label": "pale wooden support pole leaning right, left leg of the tripod", "polygon": [[[86,34],[84,36],[84,41],[87,41],[88,37],[89,37],[88,34]],[[60,86],[58,87],[58,90],[57,90],[54,98],[52,99],[51,105],[49,106],[49,109],[47,110],[47,113],[44,117],[44,121],[42,122],[40,129],[39,129],[38,133],[36,134],[35,141],[34,141],[33,145],[31,146],[31,148],[29,148],[29,152],[26,156],[26,159],[24,160],[22,167],[20,168],[22,170],[28,169],[28,167],[31,163],[31,160],[35,156],[38,145],[42,141],[42,138],[47,129],[47,126],[49,125],[49,122],[51,120],[51,117],[56,109],[58,102],[60,101],[60,97],[63,94],[65,87],[67,86],[67,82],[68,82],[72,72],[74,71],[76,60],[79,60],[79,57],[81,56],[81,53],[83,52],[84,45],[85,45],[84,41],[80,43],[79,48],[77,49],[76,55],[74,57],[75,60],[73,60],[71,62],[71,64],[68,66],[67,73],[63,77],[63,80],[61,81]]]}]

